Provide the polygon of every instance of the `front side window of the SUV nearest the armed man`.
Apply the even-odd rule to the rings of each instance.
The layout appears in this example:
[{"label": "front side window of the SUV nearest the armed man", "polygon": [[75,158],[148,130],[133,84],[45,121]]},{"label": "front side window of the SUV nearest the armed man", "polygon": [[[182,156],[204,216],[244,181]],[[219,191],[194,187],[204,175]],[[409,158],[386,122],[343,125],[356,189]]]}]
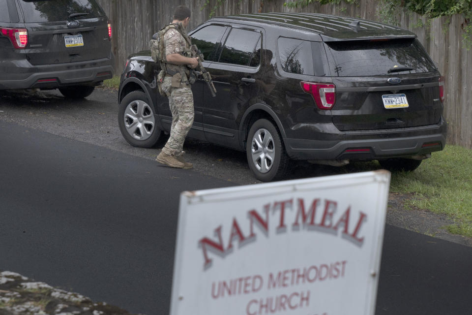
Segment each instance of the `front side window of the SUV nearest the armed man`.
[{"label": "front side window of the SUV nearest the armed man", "polygon": [[226,26],[209,25],[190,35],[192,44],[197,45],[205,61],[216,61],[216,51],[225,31]]}]

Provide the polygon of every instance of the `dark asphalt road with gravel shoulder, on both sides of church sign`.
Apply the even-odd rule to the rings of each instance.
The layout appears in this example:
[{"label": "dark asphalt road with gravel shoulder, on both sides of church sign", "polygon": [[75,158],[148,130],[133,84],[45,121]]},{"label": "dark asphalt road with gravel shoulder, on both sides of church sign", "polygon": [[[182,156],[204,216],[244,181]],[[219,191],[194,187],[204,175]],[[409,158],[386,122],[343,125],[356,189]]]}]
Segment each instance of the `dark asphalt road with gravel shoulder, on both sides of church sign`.
[{"label": "dark asphalt road with gravel shoulder, on both sides of church sign", "polygon": [[[0,269],[168,314],[178,195],[254,182],[244,157],[191,142],[189,159],[210,167],[171,169],[152,160],[156,149],[119,138],[102,98],[0,102]],[[102,123],[86,121],[91,113]],[[236,164],[219,173],[219,162]],[[471,261],[470,247],[386,225],[376,314],[471,314]]]}]

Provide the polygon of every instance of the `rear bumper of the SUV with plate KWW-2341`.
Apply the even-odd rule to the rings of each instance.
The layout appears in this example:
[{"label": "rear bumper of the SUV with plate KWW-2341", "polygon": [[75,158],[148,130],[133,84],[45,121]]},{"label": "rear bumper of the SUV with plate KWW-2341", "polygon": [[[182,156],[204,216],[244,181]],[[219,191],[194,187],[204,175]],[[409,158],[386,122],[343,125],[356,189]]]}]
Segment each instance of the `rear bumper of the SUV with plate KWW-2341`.
[{"label": "rear bumper of the SUV with plate KWW-2341", "polygon": [[307,140],[285,138],[287,154],[293,159],[385,159],[412,157],[441,151],[446,143],[447,126],[367,130],[336,134],[339,140]]}]

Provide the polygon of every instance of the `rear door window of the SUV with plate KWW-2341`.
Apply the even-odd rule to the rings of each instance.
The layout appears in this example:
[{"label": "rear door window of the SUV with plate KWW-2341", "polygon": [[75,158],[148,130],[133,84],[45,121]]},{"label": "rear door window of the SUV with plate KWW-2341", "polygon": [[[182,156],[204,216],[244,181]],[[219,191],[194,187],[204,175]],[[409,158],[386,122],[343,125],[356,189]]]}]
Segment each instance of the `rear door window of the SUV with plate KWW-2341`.
[{"label": "rear door window of the SUV with plate KWW-2341", "polygon": [[253,55],[258,43],[260,46],[260,38],[259,32],[232,29],[226,39],[219,62],[238,65],[249,65],[251,62],[251,66],[257,66],[260,59],[253,58]]}]

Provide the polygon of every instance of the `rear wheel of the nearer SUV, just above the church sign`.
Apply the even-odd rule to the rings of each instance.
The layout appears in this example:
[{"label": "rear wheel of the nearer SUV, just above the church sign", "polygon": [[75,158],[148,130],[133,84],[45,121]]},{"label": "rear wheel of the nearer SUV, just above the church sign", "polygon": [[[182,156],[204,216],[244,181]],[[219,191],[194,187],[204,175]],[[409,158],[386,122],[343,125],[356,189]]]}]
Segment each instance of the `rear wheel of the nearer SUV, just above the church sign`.
[{"label": "rear wheel of the nearer SUV, just above the church sign", "polygon": [[266,119],[256,121],[249,129],[246,157],[251,171],[263,182],[282,179],[289,171],[290,158],[282,138],[277,128]]}]

